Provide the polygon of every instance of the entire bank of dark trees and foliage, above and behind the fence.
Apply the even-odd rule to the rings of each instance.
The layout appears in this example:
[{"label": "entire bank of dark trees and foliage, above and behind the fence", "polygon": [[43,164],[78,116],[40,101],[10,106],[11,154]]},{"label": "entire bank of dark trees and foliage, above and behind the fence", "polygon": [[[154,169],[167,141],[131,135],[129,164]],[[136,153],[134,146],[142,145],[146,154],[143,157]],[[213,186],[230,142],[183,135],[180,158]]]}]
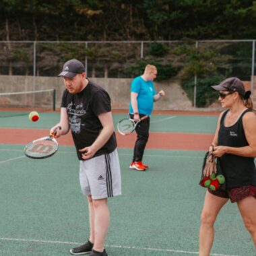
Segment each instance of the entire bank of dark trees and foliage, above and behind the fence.
[{"label": "entire bank of dark trees and foliage, above and behind the fence", "polygon": [[[88,75],[98,77],[135,77],[150,63],[158,68],[156,79],[181,79],[191,100],[193,77],[208,77],[198,79],[197,86],[197,105],[207,106],[214,100],[211,90],[206,94],[209,86],[222,76],[250,79],[251,45],[201,42],[196,49],[195,40],[255,39],[255,18],[253,0],[2,0],[0,40],[7,42],[0,44],[0,72],[15,74],[13,67],[26,67],[32,75],[33,44],[17,46],[10,40],[82,41],[37,42],[36,74],[56,75],[71,58],[88,61]],[[94,40],[138,44],[86,47],[85,41]],[[140,40],[152,42],[144,44],[144,59],[139,59]]]}]

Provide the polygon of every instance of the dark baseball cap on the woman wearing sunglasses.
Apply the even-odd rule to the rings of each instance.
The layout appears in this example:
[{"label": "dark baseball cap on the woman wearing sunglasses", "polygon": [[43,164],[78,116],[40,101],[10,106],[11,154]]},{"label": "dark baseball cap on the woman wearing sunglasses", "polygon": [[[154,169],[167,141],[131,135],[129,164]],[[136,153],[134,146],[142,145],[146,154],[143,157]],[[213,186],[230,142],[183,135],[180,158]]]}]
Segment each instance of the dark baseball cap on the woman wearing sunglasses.
[{"label": "dark baseball cap on the woman wearing sunglasses", "polygon": [[212,88],[216,91],[230,91],[230,92],[238,92],[245,96],[245,86],[243,82],[237,77],[229,77],[222,81],[218,86],[212,86]]}]

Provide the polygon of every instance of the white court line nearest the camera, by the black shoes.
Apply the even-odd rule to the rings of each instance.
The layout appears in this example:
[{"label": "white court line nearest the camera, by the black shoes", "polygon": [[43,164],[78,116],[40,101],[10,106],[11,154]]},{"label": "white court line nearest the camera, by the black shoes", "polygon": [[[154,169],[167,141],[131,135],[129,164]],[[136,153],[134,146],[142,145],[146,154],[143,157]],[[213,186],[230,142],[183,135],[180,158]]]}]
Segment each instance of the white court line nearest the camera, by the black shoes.
[{"label": "white court line nearest the camera, by the black shoes", "polygon": [[[73,243],[73,242],[65,242],[65,241],[48,241],[48,240],[36,240],[36,239],[18,239],[18,238],[8,238],[8,237],[0,237],[1,241],[17,241],[17,242],[26,242],[26,243],[52,243],[52,244],[62,244],[62,245],[81,245],[81,243]],[[130,247],[123,245],[105,245],[105,247],[112,248],[121,248],[121,249],[135,249],[139,251],[163,251],[170,253],[187,253],[187,254],[196,254],[199,253],[197,251],[181,251],[181,250],[172,250],[172,249],[158,249],[158,248],[147,248],[147,247]],[[228,255],[228,254],[218,254],[211,253],[214,256],[238,256],[238,255]]]}]

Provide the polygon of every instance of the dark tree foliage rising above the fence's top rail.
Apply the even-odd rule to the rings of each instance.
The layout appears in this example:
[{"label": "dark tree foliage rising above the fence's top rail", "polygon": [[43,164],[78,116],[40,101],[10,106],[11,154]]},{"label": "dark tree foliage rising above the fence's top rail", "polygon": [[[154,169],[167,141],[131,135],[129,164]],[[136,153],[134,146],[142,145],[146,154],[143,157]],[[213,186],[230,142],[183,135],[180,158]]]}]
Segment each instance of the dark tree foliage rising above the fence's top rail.
[{"label": "dark tree foliage rising above the fence's top rail", "polygon": [[255,16],[253,0],[2,0],[0,39],[250,39]]}]

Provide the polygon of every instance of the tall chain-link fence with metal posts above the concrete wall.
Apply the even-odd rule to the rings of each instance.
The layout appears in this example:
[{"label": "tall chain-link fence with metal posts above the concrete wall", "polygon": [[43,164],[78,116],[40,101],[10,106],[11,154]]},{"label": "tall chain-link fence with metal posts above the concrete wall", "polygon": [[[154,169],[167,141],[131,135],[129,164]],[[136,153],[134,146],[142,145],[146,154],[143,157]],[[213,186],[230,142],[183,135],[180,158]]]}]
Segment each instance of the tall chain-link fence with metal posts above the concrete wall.
[{"label": "tall chain-link fence with metal posts above the concrete wall", "polygon": [[158,79],[179,80],[194,106],[201,104],[205,77],[236,76],[255,92],[255,40],[1,41],[0,75],[55,77],[73,58],[88,77],[132,78],[151,63]]}]

